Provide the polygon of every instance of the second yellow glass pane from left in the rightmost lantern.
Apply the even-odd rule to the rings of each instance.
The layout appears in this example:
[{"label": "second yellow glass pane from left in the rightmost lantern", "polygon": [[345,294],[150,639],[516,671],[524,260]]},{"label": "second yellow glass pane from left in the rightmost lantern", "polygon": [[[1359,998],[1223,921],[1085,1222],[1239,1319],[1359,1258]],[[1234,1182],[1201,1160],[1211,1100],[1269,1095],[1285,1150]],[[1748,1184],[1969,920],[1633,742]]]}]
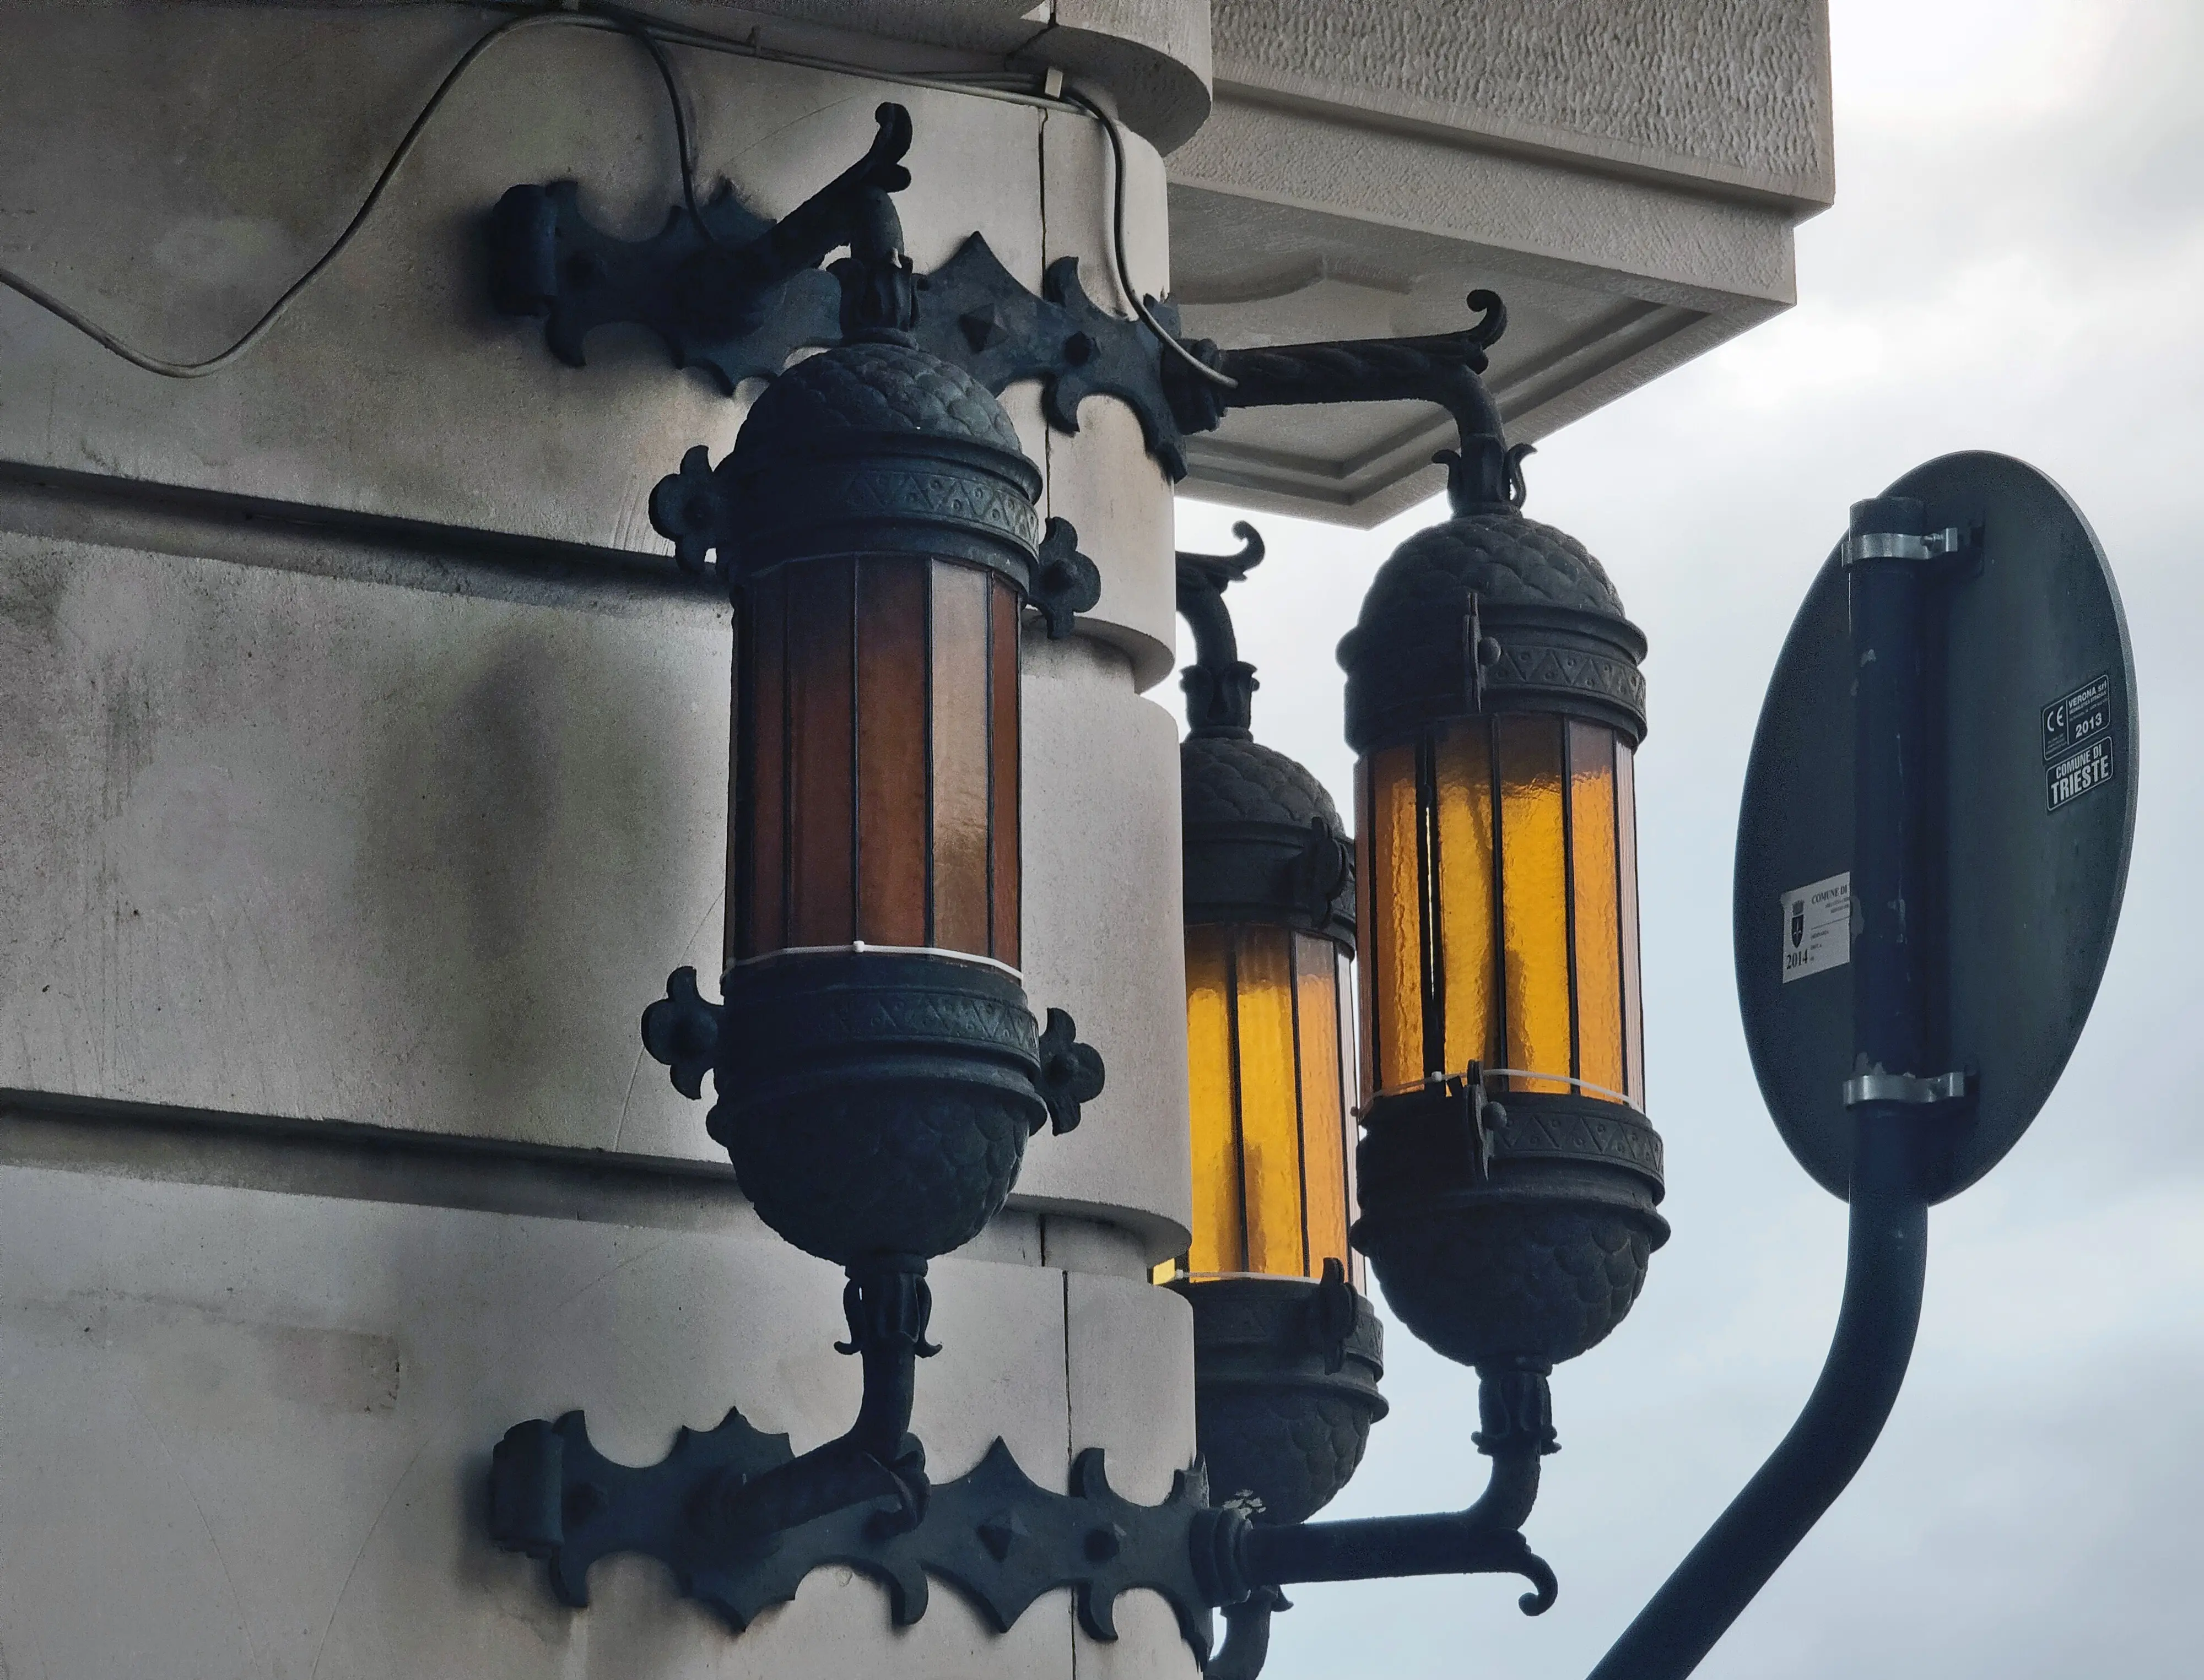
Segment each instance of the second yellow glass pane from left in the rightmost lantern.
[{"label": "second yellow glass pane from left in the rightmost lantern", "polygon": [[1446,1067],[1499,1067],[1501,1012],[1492,948],[1492,741],[1485,719],[1448,723],[1433,743],[1437,791],[1439,970]]}]

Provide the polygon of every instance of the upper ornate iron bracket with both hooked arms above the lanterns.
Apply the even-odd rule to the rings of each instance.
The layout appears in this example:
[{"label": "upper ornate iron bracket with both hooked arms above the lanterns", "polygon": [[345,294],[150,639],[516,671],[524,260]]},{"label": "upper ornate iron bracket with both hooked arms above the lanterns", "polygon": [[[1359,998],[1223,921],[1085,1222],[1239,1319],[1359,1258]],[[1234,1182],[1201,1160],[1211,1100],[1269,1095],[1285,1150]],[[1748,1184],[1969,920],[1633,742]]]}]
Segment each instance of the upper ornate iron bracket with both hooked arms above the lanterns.
[{"label": "upper ornate iron bracket with both hooked arms above the lanterns", "polygon": [[[842,291],[820,262],[868,234],[879,243],[879,227],[895,216],[888,194],[910,185],[901,161],[910,112],[888,104],[877,117],[866,157],[778,223],[721,183],[694,214],[674,205],[652,238],[622,240],[588,223],[573,181],[511,187],[489,214],[491,304],[505,315],[542,317],[544,342],[571,366],[582,366],[591,331],[633,322],[657,333],[677,368],[703,368],[727,397],[743,379],[771,379],[796,351],[844,342]],[[901,247],[899,229],[886,245]],[[1461,333],[1250,351],[1219,351],[1208,340],[1186,346],[1230,386],[1201,379],[1166,353],[1146,322],[1089,298],[1071,256],[1047,267],[1036,295],[972,234],[948,262],[917,276],[917,291],[923,348],[996,395],[1040,379],[1040,410],[1058,432],[1080,430],[1089,397],[1115,397],[1139,419],[1148,454],[1173,481],[1186,476],[1186,434],[1214,430],[1232,408],[1422,399],[1461,426],[1459,456],[1441,456],[1452,467],[1457,507],[1523,500],[1521,459],[1530,445],[1501,443],[1499,410],[1479,379],[1485,351],[1508,326],[1490,291],[1470,293],[1481,320]],[[1146,304],[1177,337],[1177,306],[1157,298]]]}]

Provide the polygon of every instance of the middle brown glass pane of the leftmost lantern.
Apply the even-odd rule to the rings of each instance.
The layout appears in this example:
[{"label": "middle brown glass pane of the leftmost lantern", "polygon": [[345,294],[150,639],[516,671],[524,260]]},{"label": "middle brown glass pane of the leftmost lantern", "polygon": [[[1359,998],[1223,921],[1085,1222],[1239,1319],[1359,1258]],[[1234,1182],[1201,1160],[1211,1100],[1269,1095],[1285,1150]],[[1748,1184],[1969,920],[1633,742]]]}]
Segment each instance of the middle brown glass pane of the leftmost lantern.
[{"label": "middle brown glass pane of the leftmost lantern", "polygon": [[926,944],[926,560],[857,562],[857,937]]}]

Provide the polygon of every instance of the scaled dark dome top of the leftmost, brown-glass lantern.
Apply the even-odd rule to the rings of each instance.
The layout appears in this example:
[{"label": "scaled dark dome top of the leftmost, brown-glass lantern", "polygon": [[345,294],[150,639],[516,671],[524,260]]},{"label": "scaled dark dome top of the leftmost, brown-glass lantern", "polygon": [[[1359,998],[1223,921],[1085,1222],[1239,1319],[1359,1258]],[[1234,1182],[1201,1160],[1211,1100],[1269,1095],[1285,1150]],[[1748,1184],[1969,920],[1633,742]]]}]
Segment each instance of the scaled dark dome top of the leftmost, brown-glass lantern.
[{"label": "scaled dark dome top of the leftmost, brown-glass lantern", "polygon": [[910,344],[857,342],[798,362],[765,388],[734,454],[818,454],[849,439],[985,443],[1023,454],[1003,403],[954,362]]}]

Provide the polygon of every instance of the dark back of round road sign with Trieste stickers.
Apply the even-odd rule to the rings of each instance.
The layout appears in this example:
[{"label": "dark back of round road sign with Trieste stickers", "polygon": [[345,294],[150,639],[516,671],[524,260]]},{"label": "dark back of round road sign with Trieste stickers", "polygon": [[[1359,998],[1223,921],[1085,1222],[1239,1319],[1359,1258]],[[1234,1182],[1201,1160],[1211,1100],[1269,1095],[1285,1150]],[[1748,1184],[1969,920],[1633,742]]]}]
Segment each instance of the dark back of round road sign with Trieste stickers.
[{"label": "dark back of round road sign with Trieste stickers", "polygon": [[[1929,1043],[1966,1105],[1933,1199],[2019,1142],[2089,1019],[2136,833],[2136,672],[2120,593],[2087,520],[2003,454],[1946,454],[1884,496],[1957,529],[1933,567],[1926,825]],[[1814,580],[1768,683],[1737,820],[1737,999],[1768,1111],[1845,1195],[1851,1120],[1851,631],[1840,553]]]}]

